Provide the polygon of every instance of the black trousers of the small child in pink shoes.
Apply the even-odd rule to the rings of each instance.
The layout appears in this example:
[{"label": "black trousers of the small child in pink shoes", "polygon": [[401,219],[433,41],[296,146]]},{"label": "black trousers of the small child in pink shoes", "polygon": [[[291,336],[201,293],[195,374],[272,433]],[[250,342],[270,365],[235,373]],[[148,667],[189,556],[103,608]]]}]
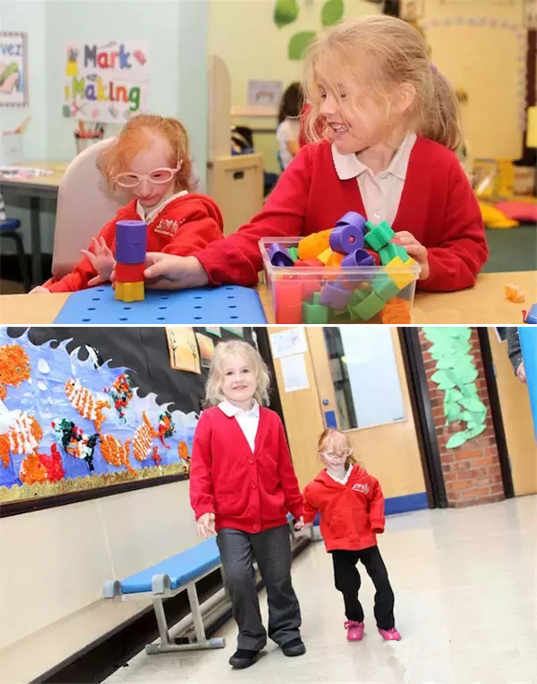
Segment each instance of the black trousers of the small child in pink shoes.
[{"label": "black trousers of the small child in pink shoes", "polygon": [[389,584],[388,571],[380,555],[378,546],[371,546],[362,551],[331,551],[334,563],[334,579],[336,588],[343,594],[345,615],[347,620],[363,621],[362,604],[358,601],[358,591],[362,584],[360,573],[356,568],[362,560],[367,574],[373,580],[375,589],[375,620],[381,629],[395,627],[394,593]]}]

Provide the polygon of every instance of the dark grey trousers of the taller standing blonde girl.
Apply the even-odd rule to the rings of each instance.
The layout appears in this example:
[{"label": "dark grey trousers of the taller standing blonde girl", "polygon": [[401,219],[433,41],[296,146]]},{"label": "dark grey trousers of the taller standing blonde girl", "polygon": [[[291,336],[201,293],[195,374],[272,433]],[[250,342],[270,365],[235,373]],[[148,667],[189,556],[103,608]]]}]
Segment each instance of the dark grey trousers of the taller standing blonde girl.
[{"label": "dark grey trousers of the taller standing blonde girl", "polygon": [[233,617],[239,626],[237,647],[260,651],[267,644],[255,590],[254,560],[267,588],[268,637],[278,646],[300,637],[302,620],[291,582],[288,526],[273,527],[257,534],[222,529],[217,534],[217,544]]}]

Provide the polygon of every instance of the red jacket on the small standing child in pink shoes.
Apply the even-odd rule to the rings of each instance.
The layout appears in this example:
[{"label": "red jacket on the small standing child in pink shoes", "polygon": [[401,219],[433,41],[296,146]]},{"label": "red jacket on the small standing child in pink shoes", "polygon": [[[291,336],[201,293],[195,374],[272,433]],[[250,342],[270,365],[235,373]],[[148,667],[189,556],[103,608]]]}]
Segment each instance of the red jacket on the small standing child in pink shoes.
[{"label": "red jacket on the small standing child in pink shoes", "polygon": [[320,511],[320,532],[327,551],[361,551],[377,545],[384,532],[384,496],[379,481],[361,466],[353,466],[346,484],[322,470],[304,489],[304,522]]}]

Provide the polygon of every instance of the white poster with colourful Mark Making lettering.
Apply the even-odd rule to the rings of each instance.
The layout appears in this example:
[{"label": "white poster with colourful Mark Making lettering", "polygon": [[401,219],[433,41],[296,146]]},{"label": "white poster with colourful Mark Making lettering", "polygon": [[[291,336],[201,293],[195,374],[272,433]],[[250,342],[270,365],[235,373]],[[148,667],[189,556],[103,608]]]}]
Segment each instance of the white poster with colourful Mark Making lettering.
[{"label": "white poster with colourful Mark Making lettering", "polygon": [[70,42],[65,49],[64,116],[124,124],[147,110],[149,66],[147,41]]}]

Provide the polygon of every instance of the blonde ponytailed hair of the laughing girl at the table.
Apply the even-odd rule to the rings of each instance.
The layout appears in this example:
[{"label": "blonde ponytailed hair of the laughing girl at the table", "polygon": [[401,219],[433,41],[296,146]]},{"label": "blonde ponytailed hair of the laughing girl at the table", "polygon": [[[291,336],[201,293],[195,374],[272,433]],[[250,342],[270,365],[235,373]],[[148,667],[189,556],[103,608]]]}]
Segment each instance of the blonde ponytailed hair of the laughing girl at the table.
[{"label": "blonde ponytailed hair of the laughing girl at the table", "polygon": [[430,63],[422,33],[406,21],[387,15],[362,17],[338,24],[311,43],[303,73],[303,92],[311,105],[304,126],[310,141],[328,137],[320,115],[319,79],[339,97],[335,74],[361,83],[377,103],[386,106],[394,88],[412,84],[415,96],[408,110],[409,128],[449,150],[461,144],[455,91]]}]

